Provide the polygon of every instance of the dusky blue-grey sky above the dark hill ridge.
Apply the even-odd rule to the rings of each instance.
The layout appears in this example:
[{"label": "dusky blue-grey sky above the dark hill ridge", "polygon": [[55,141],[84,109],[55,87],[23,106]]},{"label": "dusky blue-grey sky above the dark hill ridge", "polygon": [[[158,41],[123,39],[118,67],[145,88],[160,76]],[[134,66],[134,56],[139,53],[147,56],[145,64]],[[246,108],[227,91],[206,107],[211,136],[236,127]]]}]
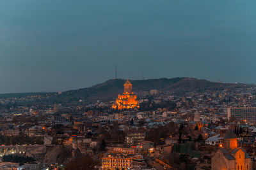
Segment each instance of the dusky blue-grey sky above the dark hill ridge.
[{"label": "dusky blue-grey sky above the dark hill ridge", "polygon": [[113,77],[256,83],[256,1],[1,0],[0,93]]}]

